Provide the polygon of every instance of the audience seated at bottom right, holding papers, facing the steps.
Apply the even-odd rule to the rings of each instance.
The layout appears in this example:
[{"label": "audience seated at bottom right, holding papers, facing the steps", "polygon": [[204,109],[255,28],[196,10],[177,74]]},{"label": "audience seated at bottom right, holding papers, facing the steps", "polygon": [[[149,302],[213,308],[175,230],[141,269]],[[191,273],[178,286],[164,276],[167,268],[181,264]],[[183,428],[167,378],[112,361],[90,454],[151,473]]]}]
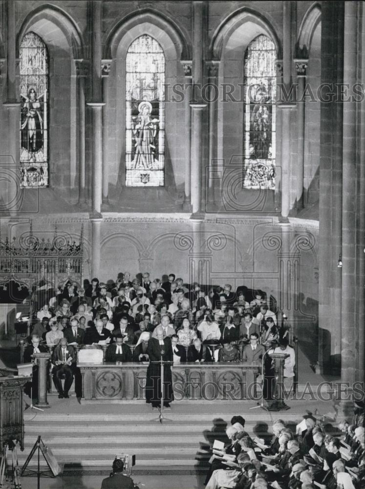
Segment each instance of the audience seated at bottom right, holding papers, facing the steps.
[{"label": "audience seated at bottom right, holding papers, facing the steps", "polygon": [[337,428],[311,414],[296,430],[278,420],[270,443],[251,437],[245,420],[234,416],[226,430],[229,442],[221,449],[213,446],[206,489],[364,488],[364,415],[359,414],[364,403],[354,406],[352,423]]}]

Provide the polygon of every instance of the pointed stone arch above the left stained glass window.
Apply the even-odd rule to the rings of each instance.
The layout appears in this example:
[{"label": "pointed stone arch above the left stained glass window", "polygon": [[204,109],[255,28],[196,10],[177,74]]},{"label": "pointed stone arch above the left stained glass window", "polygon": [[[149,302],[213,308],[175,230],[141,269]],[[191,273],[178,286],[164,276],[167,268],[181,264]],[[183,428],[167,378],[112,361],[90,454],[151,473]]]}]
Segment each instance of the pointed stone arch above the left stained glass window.
[{"label": "pointed stone arch above the left stained glass window", "polygon": [[[54,24],[58,27],[64,34],[67,43],[72,50],[74,59],[84,58],[85,48],[82,41],[82,34],[76,22],[63,9],[51,4],[40,5],[29,12],[21,22],[16,41],[17,56],[19,56],[19,48],[24,34],[31,30],[32,26],[39,21],[48,21],[50,24]],[[53,42],[56,44],[57,40],[54,39]]]}]

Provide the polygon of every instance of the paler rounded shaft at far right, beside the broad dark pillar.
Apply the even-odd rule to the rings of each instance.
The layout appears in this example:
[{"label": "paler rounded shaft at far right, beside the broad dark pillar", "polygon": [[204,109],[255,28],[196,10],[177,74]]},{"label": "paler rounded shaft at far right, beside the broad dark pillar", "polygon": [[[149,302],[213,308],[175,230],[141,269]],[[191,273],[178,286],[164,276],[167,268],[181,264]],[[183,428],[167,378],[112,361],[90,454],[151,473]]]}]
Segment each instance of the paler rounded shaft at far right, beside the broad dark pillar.
[{"label": "paler rounded shaft at far right, beside the broad dark pillar", "polygon": [[[344,2],[344,84],[353,87],[358,81],[357,43],[358,2]],[[357,106],[348,97],[344,102],[343,171],[342,171],[342,307],[341,307],[341,380],[355,380],[355,328],[364,328],[356,320],[356,159]],[[364,212],[361,209],[360,212]],[[364,284],[362,284],[364,287]]]}]

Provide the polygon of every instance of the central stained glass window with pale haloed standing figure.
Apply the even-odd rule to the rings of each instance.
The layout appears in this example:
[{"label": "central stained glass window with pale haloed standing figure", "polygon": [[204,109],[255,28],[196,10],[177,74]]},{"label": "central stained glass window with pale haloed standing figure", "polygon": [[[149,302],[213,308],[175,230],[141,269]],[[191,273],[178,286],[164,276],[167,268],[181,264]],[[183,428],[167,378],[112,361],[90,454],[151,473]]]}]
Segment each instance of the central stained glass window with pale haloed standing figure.
[{"label": "central stained glass window with pale haloed standing figure", "polygon": [[165,56],[143,35],[126,59],[126,186],[161,187],[165,168]]}]

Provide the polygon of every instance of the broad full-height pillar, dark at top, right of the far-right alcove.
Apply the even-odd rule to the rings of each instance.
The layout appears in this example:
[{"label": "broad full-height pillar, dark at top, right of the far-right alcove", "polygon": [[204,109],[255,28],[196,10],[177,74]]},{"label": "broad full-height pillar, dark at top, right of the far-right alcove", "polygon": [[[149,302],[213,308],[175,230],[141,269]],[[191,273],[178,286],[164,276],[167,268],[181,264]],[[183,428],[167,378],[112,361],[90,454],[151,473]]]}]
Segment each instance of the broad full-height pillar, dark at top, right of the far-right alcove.
[{"label": "broad full-height pillar, dark at top, right of the far-right alcove", "polygon": [[[321,82],[342,84],[344,2],[322,4]],[[319,359],[316,373],[339,374],[341,361],[342,158],[343,104],[321,101],[319,236]]]}]

